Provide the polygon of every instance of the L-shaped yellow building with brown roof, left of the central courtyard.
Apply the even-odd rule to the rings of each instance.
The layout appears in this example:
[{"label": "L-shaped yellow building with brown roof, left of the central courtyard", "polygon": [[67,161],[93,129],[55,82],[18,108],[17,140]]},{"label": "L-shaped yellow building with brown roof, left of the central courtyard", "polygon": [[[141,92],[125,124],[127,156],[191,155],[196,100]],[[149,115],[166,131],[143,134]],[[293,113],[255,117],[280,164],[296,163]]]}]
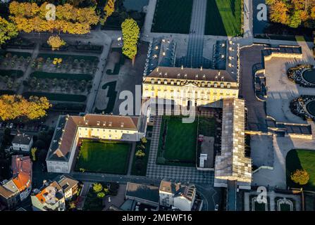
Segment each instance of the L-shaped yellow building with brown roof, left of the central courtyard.
[{"label": "L-shaped yellow building with brown roof, left of the central courtyard", "polygon": [[47,153],[47,171],[70,173],[79,139],[140,141],[145,136],[147,119],[143,116],[62,115]]}]

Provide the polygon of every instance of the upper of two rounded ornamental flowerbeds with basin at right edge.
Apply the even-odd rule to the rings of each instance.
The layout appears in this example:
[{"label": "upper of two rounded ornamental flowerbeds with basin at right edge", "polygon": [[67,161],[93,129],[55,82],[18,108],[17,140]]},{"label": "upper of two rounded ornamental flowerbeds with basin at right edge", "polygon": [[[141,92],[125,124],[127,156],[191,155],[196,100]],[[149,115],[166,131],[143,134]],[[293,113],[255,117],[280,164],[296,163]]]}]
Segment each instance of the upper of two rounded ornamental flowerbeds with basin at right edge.
[{"label": "upper of two rounded ornamental flowerbeds with basin at right edge", "polygon": [[288,79],[303,87],[315,87],[315,69],[313,65],[302,64],[287,71]]}]

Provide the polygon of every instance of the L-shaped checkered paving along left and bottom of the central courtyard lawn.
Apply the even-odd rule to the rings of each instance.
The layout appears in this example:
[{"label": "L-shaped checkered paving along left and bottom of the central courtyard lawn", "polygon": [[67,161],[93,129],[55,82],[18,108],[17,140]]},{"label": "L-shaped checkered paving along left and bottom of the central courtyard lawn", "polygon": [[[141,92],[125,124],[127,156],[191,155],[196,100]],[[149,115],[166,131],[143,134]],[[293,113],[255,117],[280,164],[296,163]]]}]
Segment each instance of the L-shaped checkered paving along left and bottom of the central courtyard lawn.
[{"label": "L-shaped checkered paving along left and bottom of the central courtyard lawn", "polygon": [[147,165],[147,177],[152,179],[171,179],[173,181],[212,185],[214,183],[214,172],[199,171],[195,167],[156,165],[156,156],[159,148],[161,120],[161,116],[156,116],[154,120],[152,141]]}]

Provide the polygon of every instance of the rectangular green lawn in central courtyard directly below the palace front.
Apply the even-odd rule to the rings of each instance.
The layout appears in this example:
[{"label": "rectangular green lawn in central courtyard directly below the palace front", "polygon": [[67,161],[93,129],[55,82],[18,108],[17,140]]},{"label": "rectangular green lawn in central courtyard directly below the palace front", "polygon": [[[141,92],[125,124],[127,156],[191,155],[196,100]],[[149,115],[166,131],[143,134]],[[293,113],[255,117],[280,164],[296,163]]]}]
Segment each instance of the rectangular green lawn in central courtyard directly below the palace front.
[{"label": "rectangular green lawn in central courtyard directly below the palace front", "polygon": [[[193,123],[183,123],[182,118],[163,116],[158,158],[165,158],[166,165],[194,167],[197,148],[197,120]],[[165,129],[166,126],[167,129]],[[165,130],[165,149],[163,150],[163,133]]]}]

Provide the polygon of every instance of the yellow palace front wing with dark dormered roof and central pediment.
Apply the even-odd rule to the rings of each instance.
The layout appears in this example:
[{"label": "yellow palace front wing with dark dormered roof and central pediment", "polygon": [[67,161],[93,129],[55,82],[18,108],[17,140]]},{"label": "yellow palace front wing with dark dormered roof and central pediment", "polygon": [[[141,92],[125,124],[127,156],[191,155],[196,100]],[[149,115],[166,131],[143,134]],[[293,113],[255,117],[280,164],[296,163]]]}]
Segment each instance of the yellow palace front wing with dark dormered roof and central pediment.
[{"label": "yellow palace front wing with dark dormered roof and central pediment", "polygon": [[142,100],[163,98],[172,105],[222,107],[238,97],[238,82],[226,70],[158,67],[143,78]]}]

